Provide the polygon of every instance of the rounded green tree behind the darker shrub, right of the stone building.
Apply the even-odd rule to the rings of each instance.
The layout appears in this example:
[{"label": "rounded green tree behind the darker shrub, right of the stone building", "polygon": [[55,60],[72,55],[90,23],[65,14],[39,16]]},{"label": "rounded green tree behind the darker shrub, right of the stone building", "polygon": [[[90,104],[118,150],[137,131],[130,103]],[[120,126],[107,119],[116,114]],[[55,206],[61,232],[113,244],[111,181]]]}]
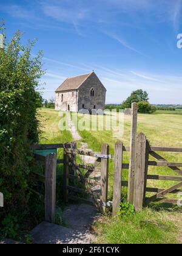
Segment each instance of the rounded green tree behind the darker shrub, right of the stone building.
[{"label": "rounded green tree behind the darker shrub, right of the stone building", "polygon": [[149,101],[148,93],[141,89],[132,91],[130,96],[123,101],[122,108],[130,108],[133,102]]}]

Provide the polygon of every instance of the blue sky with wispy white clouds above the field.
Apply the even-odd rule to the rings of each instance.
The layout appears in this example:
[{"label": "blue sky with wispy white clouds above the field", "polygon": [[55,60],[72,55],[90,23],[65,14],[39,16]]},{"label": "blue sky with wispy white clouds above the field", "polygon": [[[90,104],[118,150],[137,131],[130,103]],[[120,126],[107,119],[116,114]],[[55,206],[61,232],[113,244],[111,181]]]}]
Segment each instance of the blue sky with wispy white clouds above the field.
[{"label": "blue sky with wispy white clouds above the field", "polygon": [[120,103],[138,88],[153,104],[182,104],[182,0],[1,1],[8,35],[38,38],[44,51],[44,98],[66,77],[93,69]]}]

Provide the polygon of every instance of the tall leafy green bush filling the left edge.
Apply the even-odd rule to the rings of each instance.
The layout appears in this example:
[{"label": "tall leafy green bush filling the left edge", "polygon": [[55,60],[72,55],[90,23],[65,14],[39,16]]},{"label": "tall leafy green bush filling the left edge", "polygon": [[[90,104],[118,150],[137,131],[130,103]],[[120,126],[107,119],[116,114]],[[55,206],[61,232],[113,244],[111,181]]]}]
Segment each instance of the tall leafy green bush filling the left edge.
[{"label": "tall leafy green bush filling the left edge", "polygon": [[[3,31],[0,24],[0,33]],[[4,194],[0,219],[7,213],[24,212],[29,199],[30,144],[39,140],[37,107],[41,96],[36,88],[43,74],[42,52],[35,58],[31,55],[34,44],[22,45],[18,31],[8,43],[5,38],[0,49],[0,191]]]}]

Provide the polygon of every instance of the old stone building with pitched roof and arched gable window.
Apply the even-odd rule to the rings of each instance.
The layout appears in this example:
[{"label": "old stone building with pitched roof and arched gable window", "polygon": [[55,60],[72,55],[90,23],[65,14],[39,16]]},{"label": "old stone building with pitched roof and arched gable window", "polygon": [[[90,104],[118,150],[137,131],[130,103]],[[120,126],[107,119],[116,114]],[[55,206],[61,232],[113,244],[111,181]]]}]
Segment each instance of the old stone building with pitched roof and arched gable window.
[{"label": "old stone building with pitched roof and arched gable window", "polygon": [[55,110],[104,110],[106,88],[94,72],[67,78],[55,91]]}]

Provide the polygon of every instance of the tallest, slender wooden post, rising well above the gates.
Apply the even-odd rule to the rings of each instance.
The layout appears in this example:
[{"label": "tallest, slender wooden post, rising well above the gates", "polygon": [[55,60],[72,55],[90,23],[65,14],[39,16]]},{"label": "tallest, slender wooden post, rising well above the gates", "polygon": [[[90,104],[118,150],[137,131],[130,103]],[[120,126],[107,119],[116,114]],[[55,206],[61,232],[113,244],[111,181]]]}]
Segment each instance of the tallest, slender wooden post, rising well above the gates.
[{"label": "tallest, slender wooden post, rising well above the gates", "polygon": [[128,182],[128,193],[127,193],[127,200],[130,204],[133,204],[133,194],[134,194],[137,115],[138,115],[138,104],[134,102],[134,103],[132,103],[132,118],[131,118],[131,132],[130,132],[129,182]]}]

